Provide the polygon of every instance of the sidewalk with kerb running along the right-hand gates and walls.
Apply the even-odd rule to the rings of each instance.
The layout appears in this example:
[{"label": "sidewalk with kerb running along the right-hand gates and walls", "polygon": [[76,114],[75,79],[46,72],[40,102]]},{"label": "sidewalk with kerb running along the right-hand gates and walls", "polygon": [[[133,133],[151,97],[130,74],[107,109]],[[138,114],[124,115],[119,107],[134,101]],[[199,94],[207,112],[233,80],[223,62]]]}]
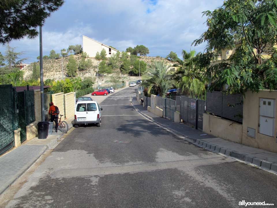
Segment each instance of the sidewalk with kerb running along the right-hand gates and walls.
[{"label": "sidewalk with kerb running along the right-hand gates and walls", "polygon": [[212,135],[182,123],[175,123],[172,120],[160,118],[140,105],[135,96],[132,96],[132,103],[139,110],[139,113],[160,126],[170,129],[174,134],[181,135],[196,146],[221,155],[235,157],[244,163],[277,174],[277,153],[238,144],[222,138],[215,138]]}]

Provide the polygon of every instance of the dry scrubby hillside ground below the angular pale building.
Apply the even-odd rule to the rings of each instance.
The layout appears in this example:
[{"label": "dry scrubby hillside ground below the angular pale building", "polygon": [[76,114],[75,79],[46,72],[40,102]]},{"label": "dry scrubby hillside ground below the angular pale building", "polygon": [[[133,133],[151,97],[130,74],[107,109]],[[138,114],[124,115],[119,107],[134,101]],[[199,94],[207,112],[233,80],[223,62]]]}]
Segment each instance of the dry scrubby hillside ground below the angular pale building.
[{"label": "dry scrubby hillside ground below the angular pale building", "polygon": [[[150,65],[154,61],[164,61],[170,63],[170,61],[164,59],[164,58],[156,58],[156,57],[147,57],[147,56],[138,56],[140,60],[143,60],[147,65]],[[74,55],[74,58],[77,62],[77,64],[81,61],[80,55]],[[67,77],[66,71],[66,65],[68,63],[69,56],[63,57],[63,76]],[[97,78],[97,60],[94,57],[89,57],[87,59],[91,59],[92,61],[92,67],[88,70],[79,71],[77,70],[77,76],[76,77],[92,77],[96,80]],[[36,64],[39,65],[39,62],[36,62]],[[119,63],[120,65],[121,63]],[[172,64],[172,63],[171,63]],[[32,70],[33,70],[33,63],[24,68],[24,79],[28,79],[32,76]],[[44,80],[46,79],[55,79],[60,80],[62,79],[62,59],[49,59],[49,60],[43,60],[43,74],[44,74]],[[105,81],[109,80],[111,76],[113,75],[120,75],[120,77],[123,80],[136,80],[138,77],[132,77],[129,75],[123,75],[119,69],[115,69],[114,73],[108,74],[104,77],[98,77],[99,82],[105,83]]]}]

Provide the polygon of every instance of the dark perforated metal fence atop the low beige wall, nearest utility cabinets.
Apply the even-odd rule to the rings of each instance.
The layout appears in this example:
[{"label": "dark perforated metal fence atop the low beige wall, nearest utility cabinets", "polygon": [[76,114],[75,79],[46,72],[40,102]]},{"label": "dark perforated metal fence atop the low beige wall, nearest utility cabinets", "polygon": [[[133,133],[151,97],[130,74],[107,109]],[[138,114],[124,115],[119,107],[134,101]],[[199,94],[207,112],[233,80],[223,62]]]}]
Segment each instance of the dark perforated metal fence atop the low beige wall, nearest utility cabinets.
[{"label": "dark perforated metal fence atop the low beige wall, nearest utility cabinets", "polygon": [[207,92],[207,112],[242,123],[242,94],[223,94],[222,92]]}]

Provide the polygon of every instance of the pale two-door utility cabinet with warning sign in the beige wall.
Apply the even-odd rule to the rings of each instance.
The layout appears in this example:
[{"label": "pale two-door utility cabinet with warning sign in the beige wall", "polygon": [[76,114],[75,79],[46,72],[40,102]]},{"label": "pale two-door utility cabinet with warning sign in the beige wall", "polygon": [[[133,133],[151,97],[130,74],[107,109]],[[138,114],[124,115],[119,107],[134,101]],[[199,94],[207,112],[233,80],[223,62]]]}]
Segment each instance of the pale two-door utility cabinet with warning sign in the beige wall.
[{"label": "pale two-door utility cabinet with warning sign in the beige wall", "polygon": [[260,98],[259,133],[274,137],[275,100]]}]

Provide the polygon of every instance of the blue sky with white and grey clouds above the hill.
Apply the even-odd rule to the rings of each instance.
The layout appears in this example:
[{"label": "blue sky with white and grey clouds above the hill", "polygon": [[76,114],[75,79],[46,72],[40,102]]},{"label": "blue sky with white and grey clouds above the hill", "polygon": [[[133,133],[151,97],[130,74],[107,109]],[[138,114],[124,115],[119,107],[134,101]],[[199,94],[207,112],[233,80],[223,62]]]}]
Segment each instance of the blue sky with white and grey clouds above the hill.
[{"label": "blue sky with white and grey clouds above the hill", "polygon": [[[222,4],[223,0],[65,0],[42,28],[43,55],[83,44],[82,35],[119,51],[142,44],[148,47],[148,56],[165,57],[174,51],[181,57],[182,49],[203,52],[205,44],[191,47],[207,29],[201,12]],[[25,52],[26,63],[37,61],[39,37],[10,45]]]}]

